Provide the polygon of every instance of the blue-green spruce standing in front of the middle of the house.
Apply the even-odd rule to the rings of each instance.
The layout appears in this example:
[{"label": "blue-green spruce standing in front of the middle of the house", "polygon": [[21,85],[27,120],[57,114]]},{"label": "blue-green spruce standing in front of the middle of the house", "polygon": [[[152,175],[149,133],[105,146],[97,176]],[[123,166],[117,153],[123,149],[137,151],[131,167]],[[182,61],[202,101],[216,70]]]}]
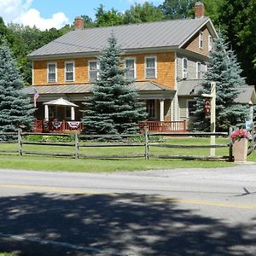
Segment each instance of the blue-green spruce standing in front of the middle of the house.
[{"label": "blue-green spruce standing in front of the middle of the house", "polygon": [[84,105],[82,122],[87,134],[135,133],[138,123],[146,117],[142,103],[137,102],[137,90],[131,90],[132,81],[125,79],[121,68],[121,51],[113,35],[109,46],[99,58],[99,77],[93,95]]}]

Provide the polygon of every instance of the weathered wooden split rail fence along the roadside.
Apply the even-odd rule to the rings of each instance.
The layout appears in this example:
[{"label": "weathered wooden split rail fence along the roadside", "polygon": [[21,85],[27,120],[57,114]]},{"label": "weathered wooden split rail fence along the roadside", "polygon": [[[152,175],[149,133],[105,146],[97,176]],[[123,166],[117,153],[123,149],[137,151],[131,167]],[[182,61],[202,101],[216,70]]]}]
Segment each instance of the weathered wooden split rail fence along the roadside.
[{"label": "weathered wooden split rail fence along the roadside", "polygon": [[[233,131],[230,128],[230,132]],[[27,136],[48,136],[48,137],[70,137],[72,138],[71,142],[33,142],[28,141],[25,139]],[[204,145],[175,145],[170,143],[156,143],[150,142],[149,137],[229,137],[229,143],[225,144],[204,144]],[[16,137],[15,141],[4,141],[1,140],[1,137]],[[150,133],[148,132],[148,128],[144,129],[142,134],[123,134],[118,135],[119,138],[127,139],[129,137],[139,137],[137,143],[131,143],[129,140],[126,142],[94,142],[88,143],[88,140],[91,139],[99,139],[103,138],[104,140],[108,140],[113,138],[113,135],[79,135],[78,132],[74,134],[60,134],[60,133],[34,133],[34,132],[22,132],[21,129],[18,129],[17,132],[7,132],[7,133],[0,133],[0,153],[9,154],[9,153],[16,153],[20,155],[48,155],[48,156],[66,156],[66,157],[73,157],[75,159],[79,158],[98,158],[98,159],[117,159],[117,158],[139,158],[143,157],[145,160],[149,158],[157,158],[157,159],[183,159],[183,160],[233,160],[232,155],[232,139],[231,135],[228,132],[160,132],[160,133]],[[255,149],[255,134],[253,134],[253,143],[251,143],[248,152],[251,153],[253,149]],[[17,143],[18,149],[14,150],[1,150],[1,143]],[[71,147],[73,148],[73,153],[51,153],[51,152],[36,152],[36,151],[28,151],[24,150],[24,145],[37,145],[37,146],[64,146],[64,147]],[[110,147],[142,147],[143,154],[81,154],[79,148],[110,148]],[[229,148],[229,154],[227,155],[218,155],[218,156],[208,156],[208,155],[173,155],[173,154],[150,154],[150,149],[153,147],[160,147],[160,148]],[[49,150],[50,151],[50,150]]]}]

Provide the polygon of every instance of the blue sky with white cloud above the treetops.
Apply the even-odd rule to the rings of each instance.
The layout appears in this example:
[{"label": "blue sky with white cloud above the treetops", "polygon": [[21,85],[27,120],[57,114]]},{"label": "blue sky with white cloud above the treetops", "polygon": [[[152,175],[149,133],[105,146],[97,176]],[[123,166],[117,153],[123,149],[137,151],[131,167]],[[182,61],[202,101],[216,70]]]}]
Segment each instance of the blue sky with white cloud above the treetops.
[{"label": "blue sky with white cloud above the treetops", "polygon": [[[0,16],[5,24],[10,22],[24,26],[37,26],[41,30],[73,24],[74,17],[88,15],[95,19],[96,8],[102,3],[104,9],[124,12],[134,3],[146,0],[0,0]],[[150,0],[159,5],[163,0]]]}]

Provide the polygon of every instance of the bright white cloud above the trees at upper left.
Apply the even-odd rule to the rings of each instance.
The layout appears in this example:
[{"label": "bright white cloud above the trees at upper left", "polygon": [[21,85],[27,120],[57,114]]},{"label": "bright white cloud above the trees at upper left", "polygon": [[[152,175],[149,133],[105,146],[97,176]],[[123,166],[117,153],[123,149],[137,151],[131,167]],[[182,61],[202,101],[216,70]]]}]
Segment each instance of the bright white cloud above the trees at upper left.
[{"label": "bright white cloud above the trees at upper left", "polygon": [[37,9],[31,9],[33,0],[0,0],[0,16],[7,23],[15,22],[25,26],[37,26],[41,30],[61,28],[68,23],[64,13],[56,13],[49,19],[41,16]]}]

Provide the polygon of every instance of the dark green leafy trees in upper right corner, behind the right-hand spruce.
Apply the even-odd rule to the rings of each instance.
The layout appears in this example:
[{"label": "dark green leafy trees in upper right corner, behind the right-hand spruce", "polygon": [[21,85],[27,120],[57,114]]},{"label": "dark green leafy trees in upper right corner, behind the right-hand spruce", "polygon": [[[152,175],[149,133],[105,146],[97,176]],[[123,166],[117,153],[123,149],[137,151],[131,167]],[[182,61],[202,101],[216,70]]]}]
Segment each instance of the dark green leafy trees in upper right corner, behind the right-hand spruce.
[{"label": "dark green leafy trees in upper right corner, behind the right-hand spruce", "polygon": [[224,0],[219,10],[218,22],[226,32],[232,48],[236,50],[247,84],[256,84],[253,70],[253,60],[256,57],[256,2]]}]

